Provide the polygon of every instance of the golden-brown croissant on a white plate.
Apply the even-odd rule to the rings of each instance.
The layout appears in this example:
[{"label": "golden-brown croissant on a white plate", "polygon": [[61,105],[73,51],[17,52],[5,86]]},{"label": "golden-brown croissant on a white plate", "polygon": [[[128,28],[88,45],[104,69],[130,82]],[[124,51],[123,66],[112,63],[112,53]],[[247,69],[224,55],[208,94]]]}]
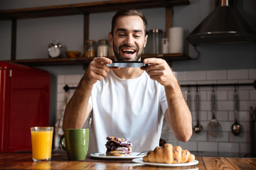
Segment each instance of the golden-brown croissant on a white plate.
[{"label": "golden-brown croissant on a white plate", "polygon": [[171,144],[164,144],[161,147],[156,147],[154,151],[149,151],[143,157],[144,162],[177,164],[193,162],[195,155],[191,154],[187,149],[182,149],[180,146],[173,147]]}]

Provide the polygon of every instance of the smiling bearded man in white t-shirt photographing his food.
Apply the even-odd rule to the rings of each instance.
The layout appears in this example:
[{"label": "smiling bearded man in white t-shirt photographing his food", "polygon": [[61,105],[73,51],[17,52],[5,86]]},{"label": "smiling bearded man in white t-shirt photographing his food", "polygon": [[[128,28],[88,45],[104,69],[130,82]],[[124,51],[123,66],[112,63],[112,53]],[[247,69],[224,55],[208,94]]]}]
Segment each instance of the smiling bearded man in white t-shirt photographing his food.
[{"label": "smiling bearded man in white t-shirt photographing his food", "polygon": [[[112,18],[109,40],[114,60],[140,61],[146,46],[146,18],[122,9]],[[65,109],[63,129],[82,128],[92,112],[88,152],[105,152],[107,136],[124,137],[133,152],[159,146],[165,118],[177,140],[192,135],[191,113],[178,81],[165,60],[147,58],[142,68],[107,67],[112,60],[95,57]]]}]

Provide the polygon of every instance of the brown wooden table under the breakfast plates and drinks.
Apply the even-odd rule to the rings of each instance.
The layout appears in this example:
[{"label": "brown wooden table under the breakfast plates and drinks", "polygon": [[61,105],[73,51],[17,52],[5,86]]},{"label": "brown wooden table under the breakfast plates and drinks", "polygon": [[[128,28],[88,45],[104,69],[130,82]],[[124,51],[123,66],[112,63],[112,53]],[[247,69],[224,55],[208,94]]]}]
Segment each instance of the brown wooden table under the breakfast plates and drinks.
[{"label": "brown wooden table under the breakfast plates and drinks", "polygon": [[65,153],[53,153],[50,162],[33,162],[31,153],[0,153],[0,169],[256,169],[256,158],[238,157],[196,157],[194,166],[146,166],[132,160],[93,159],[87,155],[82,161],[69,161]]}]

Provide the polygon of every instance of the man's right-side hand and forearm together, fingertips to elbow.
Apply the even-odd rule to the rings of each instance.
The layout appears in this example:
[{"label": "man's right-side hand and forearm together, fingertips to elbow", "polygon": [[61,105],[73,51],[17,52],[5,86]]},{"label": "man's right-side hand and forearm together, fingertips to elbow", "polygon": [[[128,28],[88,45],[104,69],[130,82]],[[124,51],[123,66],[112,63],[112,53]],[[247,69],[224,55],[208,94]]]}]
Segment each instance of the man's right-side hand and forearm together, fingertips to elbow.
[{"label": "man's right-side hand and forearm together, fingertips to elbow", "polygon": [[174,77],[174,73],[165,60],[147,58],[144,63],[149,64],[149,66],[142,69],[146,70],[151,79],[159,81],[164,86],[168,103],[164,118],[169,128],[177,140],[188,141],[192,135],[191,113],[183,98],[178,81]]}]

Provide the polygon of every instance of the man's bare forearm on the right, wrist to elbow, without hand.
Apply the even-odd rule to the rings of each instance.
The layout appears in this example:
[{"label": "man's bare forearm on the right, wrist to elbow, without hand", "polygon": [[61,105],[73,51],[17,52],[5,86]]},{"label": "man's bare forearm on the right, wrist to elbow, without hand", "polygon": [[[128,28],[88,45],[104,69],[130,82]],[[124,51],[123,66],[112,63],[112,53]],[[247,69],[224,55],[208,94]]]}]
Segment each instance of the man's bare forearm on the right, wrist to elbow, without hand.
[{"label": "man's bare forearm on the right, wrist to elbow, without hand", "polygon": [[166,86],[168,110],[164,118],[177,140],[186,142],[192,135],[191,112],[183,98],[178,82],[173,86]]}]

